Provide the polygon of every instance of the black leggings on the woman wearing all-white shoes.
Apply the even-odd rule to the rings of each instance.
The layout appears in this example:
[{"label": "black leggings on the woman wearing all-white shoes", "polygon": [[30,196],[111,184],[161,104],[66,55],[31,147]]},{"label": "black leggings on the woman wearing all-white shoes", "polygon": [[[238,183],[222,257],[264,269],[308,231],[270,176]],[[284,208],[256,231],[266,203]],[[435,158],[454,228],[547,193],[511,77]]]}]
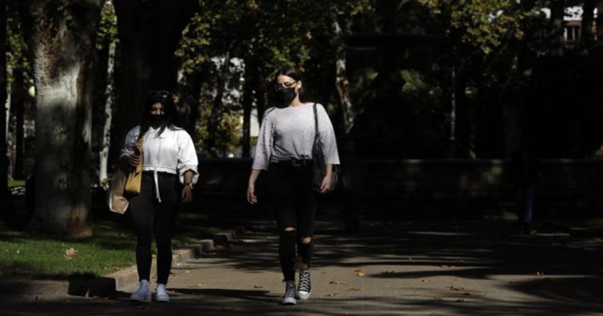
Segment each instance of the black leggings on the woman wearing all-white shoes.
[{"label": "black leggings on the woman wearing all-white shoes", "polygon": [[140,194],[130,200],[130,212],[136,232],[136,267],[139,280],[150,280],[151,240],[157,243],[157,283],[168,283],[172,266],[172,225],[178,205],[177,175],[158,174],[157,200],[153,172],[143,172]]}]

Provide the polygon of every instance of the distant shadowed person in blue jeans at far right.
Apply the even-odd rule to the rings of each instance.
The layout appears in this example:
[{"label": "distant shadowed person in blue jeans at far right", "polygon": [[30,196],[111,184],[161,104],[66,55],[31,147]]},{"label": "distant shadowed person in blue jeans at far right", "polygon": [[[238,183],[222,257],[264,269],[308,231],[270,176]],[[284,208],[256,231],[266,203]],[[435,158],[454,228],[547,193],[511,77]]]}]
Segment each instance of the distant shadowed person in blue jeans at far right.
[{"label": "distant shadowed person in blue jeans at far right", "polygon": [[511,155],[510,172],[519,228],[524,234],[529,234],[532,229],[534,196],[540,181],[540,161],[528,139],[523,139],[521,147]]}]

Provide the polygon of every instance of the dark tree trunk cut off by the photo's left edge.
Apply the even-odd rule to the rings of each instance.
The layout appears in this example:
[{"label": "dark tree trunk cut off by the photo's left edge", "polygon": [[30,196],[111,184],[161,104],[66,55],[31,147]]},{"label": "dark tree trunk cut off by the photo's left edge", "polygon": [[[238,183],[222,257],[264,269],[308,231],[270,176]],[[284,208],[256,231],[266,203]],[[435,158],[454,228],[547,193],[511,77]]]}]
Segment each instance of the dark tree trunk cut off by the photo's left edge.
[{"label": "dark tree trunk cut off by the photo's left edge", "polygon": [[[6,31],[6,0],[0,0],[0,104],[6,104],[7,93],[7,73],[6,73],[6,51],[7,51],[7,31]],[[6,111],[0,111],[0,122],[6,124]],[[8,184],[7,184],[7,159],[6,159],[6,126],[0,128],[0,153],[2,160],[0,162],[0,205],[8,205]],[[8,211],[5,209],[5,212]]]}]

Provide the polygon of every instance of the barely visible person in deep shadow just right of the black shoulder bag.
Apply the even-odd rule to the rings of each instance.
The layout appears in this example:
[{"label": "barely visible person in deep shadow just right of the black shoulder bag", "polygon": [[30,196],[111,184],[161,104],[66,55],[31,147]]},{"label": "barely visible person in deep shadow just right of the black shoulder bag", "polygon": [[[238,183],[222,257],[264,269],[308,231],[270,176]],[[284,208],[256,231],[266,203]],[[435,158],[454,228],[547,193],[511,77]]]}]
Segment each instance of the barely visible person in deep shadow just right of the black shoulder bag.
[{"label": "barely visible person in deep shadow just right of the black shoulder bag", "polygon": [[358,155],[356,143],[348,140],[344,143],[341,155],[341,184],[343,185],[342,217],[345,232],[360,232],[360,207],[367,168]]}]

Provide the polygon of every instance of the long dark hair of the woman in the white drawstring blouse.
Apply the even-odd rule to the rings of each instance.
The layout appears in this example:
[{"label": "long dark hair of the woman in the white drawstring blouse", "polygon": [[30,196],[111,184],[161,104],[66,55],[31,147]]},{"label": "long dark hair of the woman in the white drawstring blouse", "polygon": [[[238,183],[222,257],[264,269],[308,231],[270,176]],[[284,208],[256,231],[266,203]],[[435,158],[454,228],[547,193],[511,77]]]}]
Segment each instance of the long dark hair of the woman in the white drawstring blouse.
[{"label": "long dark hair of the woman in the white drawstring blouse", "polygon": [[165,119],[163,123],[159,127],[159,132],[157,132],[156,137],[159,137],[165,131],[166,128],[169,129],[180,129],[176,125],[177,121],[177,111],[176,105],[174,104],[174,99],[172,99],[172,94],[167,90],[151,90],[147,93],[147,97],[145,98],[145,107],[144,113],[142,114],[142,123],[140,123],[140,134],[138,138],[141,138],[144,134],[147,133],[150,127],[150,117],[151,117],[151,107],[153,104],[159,103],[163,107],[163,113]]}]

